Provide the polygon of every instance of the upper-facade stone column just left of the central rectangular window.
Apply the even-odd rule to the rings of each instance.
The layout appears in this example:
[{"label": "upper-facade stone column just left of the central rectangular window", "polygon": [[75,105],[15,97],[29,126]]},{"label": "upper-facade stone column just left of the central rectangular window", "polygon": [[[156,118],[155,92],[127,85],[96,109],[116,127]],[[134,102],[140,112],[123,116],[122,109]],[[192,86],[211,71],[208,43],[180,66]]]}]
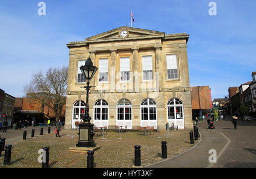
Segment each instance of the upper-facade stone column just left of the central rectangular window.
[{"label": "upper-facade stone column just left of the central rectangular window", "polygon": [[111,60],[110,60],[110,92],[115,91],[115,64],[117,61],[117,50],[110,50],[111,52]]}]

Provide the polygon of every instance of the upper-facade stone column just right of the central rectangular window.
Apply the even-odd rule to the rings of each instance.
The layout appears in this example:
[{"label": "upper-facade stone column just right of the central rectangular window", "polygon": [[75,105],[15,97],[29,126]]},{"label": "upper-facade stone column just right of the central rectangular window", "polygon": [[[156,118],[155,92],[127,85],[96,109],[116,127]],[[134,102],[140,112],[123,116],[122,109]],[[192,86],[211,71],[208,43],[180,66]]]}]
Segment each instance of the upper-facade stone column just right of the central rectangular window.
[{"label": "upper-facade stone column just right of the central rectangular window", "polygon": [[134,48],[133,50],[133,91],[139,92],[139,49]]}]

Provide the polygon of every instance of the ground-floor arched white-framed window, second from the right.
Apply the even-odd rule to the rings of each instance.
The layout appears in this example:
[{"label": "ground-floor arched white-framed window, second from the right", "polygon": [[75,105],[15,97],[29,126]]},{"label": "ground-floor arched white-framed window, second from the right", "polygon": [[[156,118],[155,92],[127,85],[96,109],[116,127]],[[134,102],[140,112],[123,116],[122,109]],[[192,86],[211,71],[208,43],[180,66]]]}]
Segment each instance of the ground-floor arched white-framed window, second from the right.
[{"label": "ground-floor arched white-framed window, second from the right", "polygon": [[156,103],[153,99],[144,99],[141,103],[141,126],[157,125]]}]

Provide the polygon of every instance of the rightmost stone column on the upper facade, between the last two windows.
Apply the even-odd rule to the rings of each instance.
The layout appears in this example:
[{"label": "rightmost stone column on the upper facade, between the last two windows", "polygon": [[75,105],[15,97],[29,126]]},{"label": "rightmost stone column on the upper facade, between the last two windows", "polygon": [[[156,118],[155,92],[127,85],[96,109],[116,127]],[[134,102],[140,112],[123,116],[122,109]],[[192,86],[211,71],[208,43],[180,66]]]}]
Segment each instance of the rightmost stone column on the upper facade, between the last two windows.
[{"label": "rightmost stone column on the upper facade, between the last two windows", "polygon": [[159,82],[159,89],[158,90],[163,88],[163,73],[164,73],[164,71],[161,71],[160,69],[164,69],[164,68],[162,68],[163,60],[161,59],[161,53],[162,53],[161,48],[156,48],[155,49],[155,72],[156,72],[156,78],[158,78],[158,79],[155,79],[155,80],[156,81],[158,80],[158,82]]}]

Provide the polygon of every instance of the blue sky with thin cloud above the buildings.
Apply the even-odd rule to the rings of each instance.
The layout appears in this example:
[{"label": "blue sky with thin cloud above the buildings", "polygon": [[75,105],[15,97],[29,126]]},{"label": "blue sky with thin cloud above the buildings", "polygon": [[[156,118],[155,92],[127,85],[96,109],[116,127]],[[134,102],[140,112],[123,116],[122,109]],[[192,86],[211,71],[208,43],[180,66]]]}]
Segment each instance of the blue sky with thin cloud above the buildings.
[{"label": "blue sky with thin cloud above the buildings", "polygon": [[68,42],[130,25],[130,10],[133,27],[190,35],[191,86],[210,86],[212,99],[256,71],[255,0],[215,0],[217,16],[207,0],[44,0],[46,16],[38,15],[39,2],[0,2],[0,88],[15,97],[24,96],[32,73],[68,66]]}]

